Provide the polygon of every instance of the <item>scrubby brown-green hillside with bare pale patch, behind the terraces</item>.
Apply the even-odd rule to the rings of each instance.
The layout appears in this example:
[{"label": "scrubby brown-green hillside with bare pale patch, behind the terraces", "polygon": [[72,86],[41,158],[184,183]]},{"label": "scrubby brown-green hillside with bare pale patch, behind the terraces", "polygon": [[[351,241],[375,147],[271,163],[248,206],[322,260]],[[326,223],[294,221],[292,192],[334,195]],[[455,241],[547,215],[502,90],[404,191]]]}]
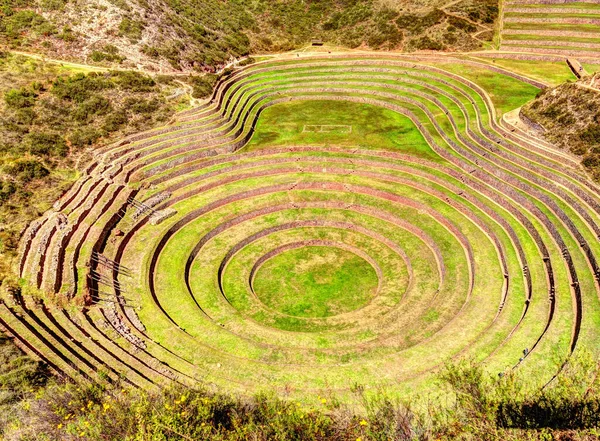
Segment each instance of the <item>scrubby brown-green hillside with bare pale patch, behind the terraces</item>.
[{"label": "scrubby brown-green hillside with bare pale patch, behind the terraces", "polygon": [[312,39],[348,48],[472,50],[497,0],[3,0],[0,39],[65,60],[212,71],[233,57]]}]

